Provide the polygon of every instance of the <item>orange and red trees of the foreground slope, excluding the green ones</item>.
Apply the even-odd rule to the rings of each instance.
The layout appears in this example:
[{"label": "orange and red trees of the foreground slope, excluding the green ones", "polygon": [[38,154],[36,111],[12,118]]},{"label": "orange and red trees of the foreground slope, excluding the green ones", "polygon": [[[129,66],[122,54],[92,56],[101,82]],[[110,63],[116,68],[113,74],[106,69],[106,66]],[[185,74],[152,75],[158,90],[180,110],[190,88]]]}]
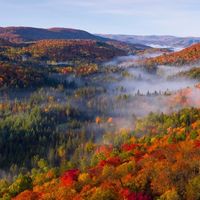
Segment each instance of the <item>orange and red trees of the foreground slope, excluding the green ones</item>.
[{"label": "orange and red trees of the foreground slope, excluding the green ones", "polygon": [[[163,135],[150,132],[150,136],[140,139],[127,138],[120,147],[99,146],[94,152],[100,158],[96,166],[82,173],[77,169],[68,170],[60,179],[34,186],[33,193],[40,194],[42,199],[61,200],[150,200],[166,196],[186,199],[188,181],[199,174],[200,133],[197,130],[200,122],[198,113],[194,113],[190,124],[165,127]],[[154,127],[158,129],[156,124]],[[191,138],[190,132],[194,130],[197,136]],[[185,137],[178,140],[182,134]],[[51,173],[47,174],[52,177]]]}]

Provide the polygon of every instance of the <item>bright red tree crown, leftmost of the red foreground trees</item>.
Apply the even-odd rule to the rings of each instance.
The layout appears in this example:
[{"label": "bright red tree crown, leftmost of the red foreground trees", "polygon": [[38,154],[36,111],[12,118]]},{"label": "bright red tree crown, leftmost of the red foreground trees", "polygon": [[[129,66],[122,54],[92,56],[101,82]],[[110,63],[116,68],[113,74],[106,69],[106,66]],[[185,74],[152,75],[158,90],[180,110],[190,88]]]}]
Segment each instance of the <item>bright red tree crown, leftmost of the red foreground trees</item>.
[{"label": "bright red tree crown, leftmost of the red foreground trees", "polygon": [[60,180],[63,186],[71,186],[78,178],[80,171],[78,169],[68,170],[61,176]]}]

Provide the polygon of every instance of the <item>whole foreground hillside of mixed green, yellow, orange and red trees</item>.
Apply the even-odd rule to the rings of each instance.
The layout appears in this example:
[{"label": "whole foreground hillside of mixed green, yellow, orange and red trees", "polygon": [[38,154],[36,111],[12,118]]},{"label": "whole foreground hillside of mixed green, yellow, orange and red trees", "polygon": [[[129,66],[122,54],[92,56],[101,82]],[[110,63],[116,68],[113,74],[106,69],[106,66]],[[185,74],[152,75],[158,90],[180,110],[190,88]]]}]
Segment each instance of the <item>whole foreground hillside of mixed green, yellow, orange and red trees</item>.
[{"label": "whole foreground hillside of mixed green, yellow, orange and red trees", "polygon": [[39,161],[37,170],[19,175],[11,185],[2,180],[2,195],[23,191],[16,199],[198,200],[199,118],[199,109],[150,114],[136,123],[134,133],[116,133],[112,145],[86,145],[84,151],[95,152],[86,168],[57,177],[56,169]]}]

